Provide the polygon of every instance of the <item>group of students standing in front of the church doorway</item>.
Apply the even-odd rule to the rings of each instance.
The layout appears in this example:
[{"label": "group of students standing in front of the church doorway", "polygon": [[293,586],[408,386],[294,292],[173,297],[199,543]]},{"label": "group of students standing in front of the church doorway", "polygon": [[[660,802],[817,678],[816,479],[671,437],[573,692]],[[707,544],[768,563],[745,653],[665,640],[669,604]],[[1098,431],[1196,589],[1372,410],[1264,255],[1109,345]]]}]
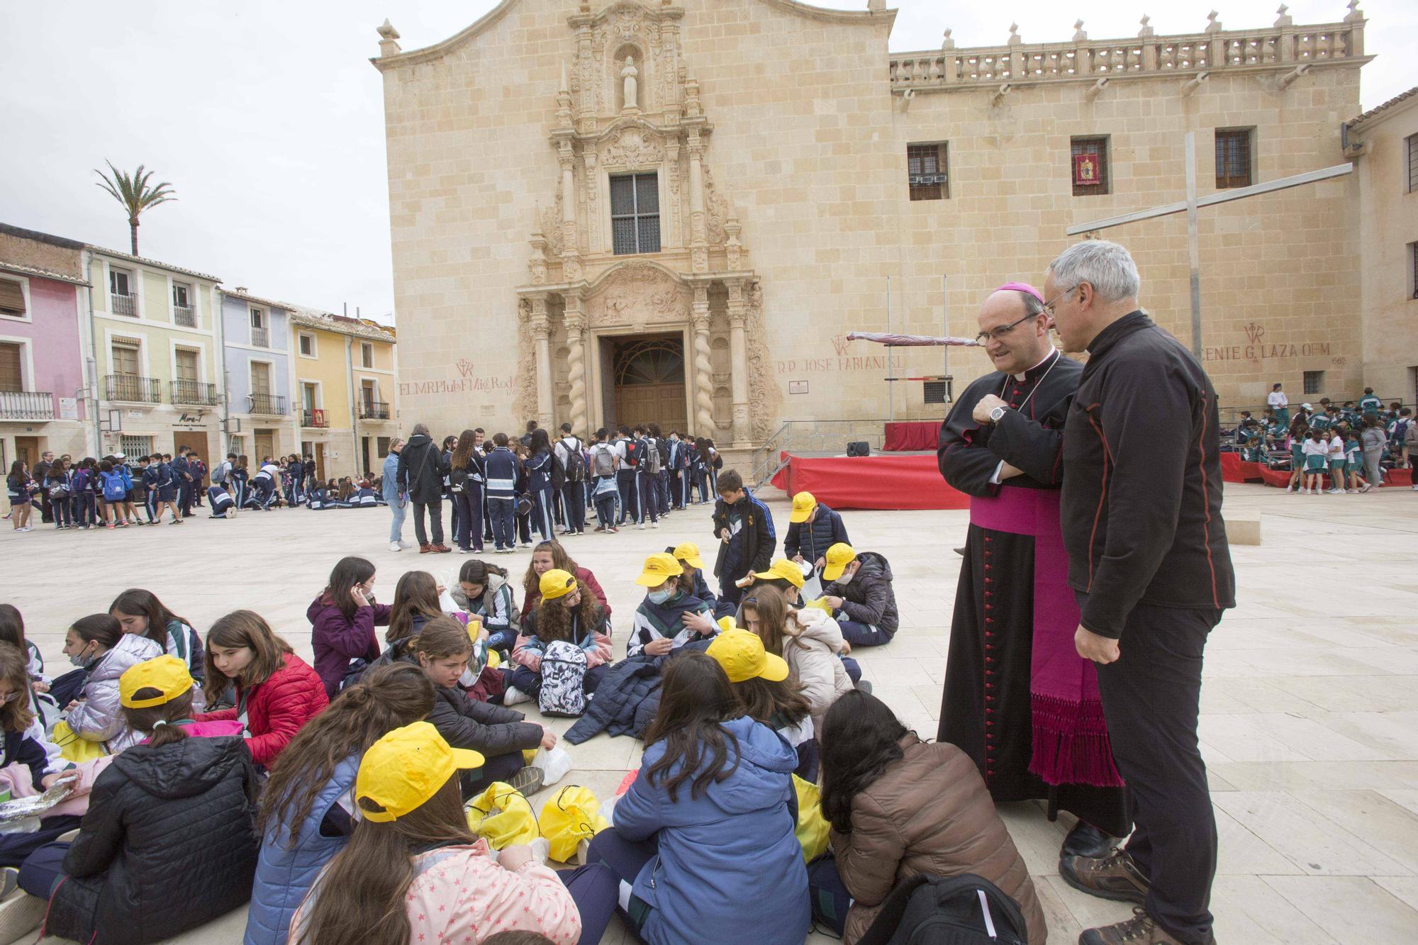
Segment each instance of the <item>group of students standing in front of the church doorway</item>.
[{"label": "group of students standing in front of the church doorway", "polygon": [[[554,441],[535,421],[520,438],[479,429],[434,444],[417,424],[408,441],[394,440],[384,460],[383,498],[393,509],[389,548],[401,551],[408,505],[421,553],[454,551],[444,543],[442,504],[448,501],[451,541],[462,553],[510,553],[542,541],[617,532],[627,521],[659,528],[659,519],[683,509],[698,492],[708,502],[718,491],[723,460],[712,440],[689,440],[678,430],[662,436],[657,424],[601,429],[593,443],[563,423]],[[427,519],[427,526],[425,526]]]}]

